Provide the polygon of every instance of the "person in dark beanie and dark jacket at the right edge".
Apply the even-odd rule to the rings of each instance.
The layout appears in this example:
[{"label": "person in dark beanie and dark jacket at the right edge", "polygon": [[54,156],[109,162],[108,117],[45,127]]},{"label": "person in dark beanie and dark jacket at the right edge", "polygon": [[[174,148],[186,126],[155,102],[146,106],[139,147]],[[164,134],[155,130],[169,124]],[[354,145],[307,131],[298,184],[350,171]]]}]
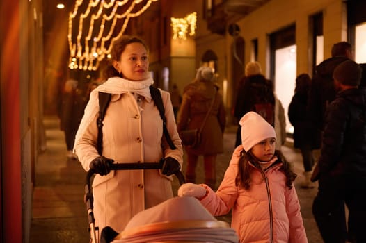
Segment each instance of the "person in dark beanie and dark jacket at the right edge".
[{"label": "person in dark beanie and dark jacket at the right edge", "polygon": [[312,212],[326,243],[366,242],[366,89],[358,88],[360,77],[361,68],[352,60],[333,72],[340,92],[327,108],[319,169],[312,176],[319,179]]}]

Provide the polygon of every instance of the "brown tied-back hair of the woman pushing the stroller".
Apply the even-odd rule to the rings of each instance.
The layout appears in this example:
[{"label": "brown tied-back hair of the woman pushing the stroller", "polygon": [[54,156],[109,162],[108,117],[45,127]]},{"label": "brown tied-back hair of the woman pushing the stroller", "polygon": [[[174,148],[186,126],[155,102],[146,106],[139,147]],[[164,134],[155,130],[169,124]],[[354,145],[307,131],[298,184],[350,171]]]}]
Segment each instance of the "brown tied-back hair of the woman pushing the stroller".
[{"label": "brown tied-back hair of the woman pushing the stroller", "polygon": [[[119,39],[117,39],[113,42],[113,47],[111,49],[111,62],[119,61],[123,51],[125,51],[125,49],[127,47],[127,44],[132,44],[132,43],[140,43],[143,45],[143,47],[145,47],[146,51],[149,51],[148,46],[145,44],[145,42],[141,38],[132,36],[132,35],[122,35]],[[116,76],[122,78],[122,74],[120,74],[113,67],[113,65],[108,65],[106,67],[106,69],[104,70],[104,76],[107,79],[111,78],[111,77],[116,77]]]}]

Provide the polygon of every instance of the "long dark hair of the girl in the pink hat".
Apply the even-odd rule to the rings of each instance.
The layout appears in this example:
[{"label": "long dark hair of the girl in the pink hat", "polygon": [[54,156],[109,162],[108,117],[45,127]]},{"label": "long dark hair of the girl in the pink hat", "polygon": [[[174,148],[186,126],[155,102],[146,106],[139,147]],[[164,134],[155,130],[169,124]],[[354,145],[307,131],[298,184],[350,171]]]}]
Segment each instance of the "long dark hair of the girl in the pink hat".
[{"label": "long dark hair of the girl in the pink hat", "polygon": [[[276,163],[282,162],[283,164],[280,170],[285,173],[287,187],[292,188],[297,175],[294,173],[294,171],[292,171],[291,165],[286,160],[285,156],[283,156],[283,153],[281,151],[276,150],[274,155],[278,158]],[[238,187],[243,187],[246,190],[250,188],[250,174],[255,169],[251,165],[249,165],[249,161],[251,161],[253,165],[255,165],[255,167],[260,169],[260,162],[258,162],[257,158],[255,158],[255,156],[253,156],[250,151],[248,153],[243,151],[243,154],[239,158],[239,171],[237,174],[237,178],[235,178],[235,185],[237,185]]]}]

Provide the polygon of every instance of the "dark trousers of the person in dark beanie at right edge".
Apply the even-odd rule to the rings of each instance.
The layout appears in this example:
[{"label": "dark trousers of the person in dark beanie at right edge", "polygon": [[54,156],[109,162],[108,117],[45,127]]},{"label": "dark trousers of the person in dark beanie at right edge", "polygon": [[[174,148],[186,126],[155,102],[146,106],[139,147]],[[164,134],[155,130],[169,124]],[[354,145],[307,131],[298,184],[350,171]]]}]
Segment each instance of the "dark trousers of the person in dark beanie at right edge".
[{"label": "dark trousers of the person in dark beanie at right edge", "polygon": [[[322,176],[312,213],[325,243],[366,242],[364,195],[366,179],[358,176]],[[344,203],[349,208],[347,233]]]}]

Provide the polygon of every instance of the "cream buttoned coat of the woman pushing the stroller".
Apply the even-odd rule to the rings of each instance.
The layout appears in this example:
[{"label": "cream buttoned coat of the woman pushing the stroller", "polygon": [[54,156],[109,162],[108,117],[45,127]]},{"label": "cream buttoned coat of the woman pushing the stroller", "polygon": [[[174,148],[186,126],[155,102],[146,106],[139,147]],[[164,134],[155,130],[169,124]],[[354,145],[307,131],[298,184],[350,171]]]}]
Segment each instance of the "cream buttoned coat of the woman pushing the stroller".
[{"label": "cream buttoned coat of the woman pushing the stroller", "polygon": [[[90,95],[90,103],[97,104],[97,90]],[[168,156],[182,165],[182,145],[177,133],[170,94],[161,91],[167,119],[167,128],[177,149],[170,149],[163,137],[163,123],[154,101],[142,98],[138,106],[136,97],[130,92],[112,94],[111,103],[103,121],[103,152],[115,163],[157,162]],[[93,108],[86,110],[93,110]],[[94,105],[95,106],[95,105]],[[94,108],[95,110],[95,108]],[[90,117],[90,116],[88,116]],[[89,163],[97,153],[97,114],[82,121],[85,131],[77,135],[74,151],[83,168],[88,171]],[[81,128],[79,128],[81,129]],[[171,177],[160,170],[111,171],[106,176],[96,175],[93,182],[95,226],[100,231],[111,226],[122,231],[129,219],[137,212],[155,206],[173,197]]]}]

